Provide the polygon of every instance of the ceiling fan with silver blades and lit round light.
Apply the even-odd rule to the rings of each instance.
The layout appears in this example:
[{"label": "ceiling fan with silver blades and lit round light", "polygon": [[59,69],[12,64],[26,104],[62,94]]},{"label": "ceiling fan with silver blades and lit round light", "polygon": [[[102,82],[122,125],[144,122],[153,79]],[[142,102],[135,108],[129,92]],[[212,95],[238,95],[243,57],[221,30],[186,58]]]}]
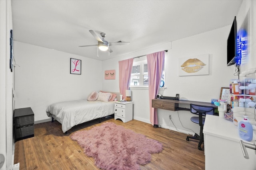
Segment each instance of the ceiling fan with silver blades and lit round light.
[{"label": "ceiling fan with silver blades and lit round light", "polygon": [[109,46],[113,46],[113,45],[128,45],[130,44],[130,42],[122,42],[122,41],[118,41],[118,42],[112,42],[109,43],[108,41],[106,41],[104,38],[106,37],[106,33],[100,33],[102,39],[95,33],[95,31],[93,30],[89,30],[90,33],[94,36],[94,38],[98,41],[98,44],[95,45],[82,45],[79,47],[89,47],[89,46],[98,46],[98,49],[100,49],[101,51],[107,51],[109,53],[112,53],[112,49],[109,48]]}]

